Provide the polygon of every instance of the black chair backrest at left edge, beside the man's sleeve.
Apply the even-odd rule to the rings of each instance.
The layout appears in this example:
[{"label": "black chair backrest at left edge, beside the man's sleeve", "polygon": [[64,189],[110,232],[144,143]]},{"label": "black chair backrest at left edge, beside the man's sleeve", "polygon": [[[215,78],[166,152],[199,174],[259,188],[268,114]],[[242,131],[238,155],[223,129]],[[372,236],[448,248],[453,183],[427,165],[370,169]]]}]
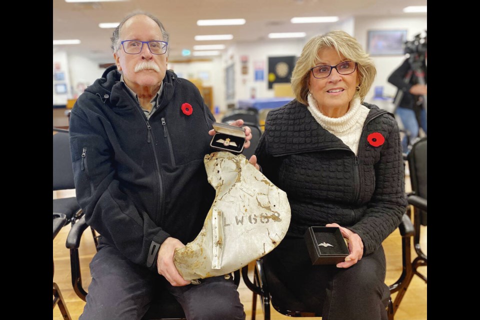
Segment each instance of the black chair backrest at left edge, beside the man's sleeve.
[{"label": "black chair backrest at left edge, beside the man's sleeve", "polygon": [[53,190],[74,189],[68,131],[54,130],[53,134]]}]

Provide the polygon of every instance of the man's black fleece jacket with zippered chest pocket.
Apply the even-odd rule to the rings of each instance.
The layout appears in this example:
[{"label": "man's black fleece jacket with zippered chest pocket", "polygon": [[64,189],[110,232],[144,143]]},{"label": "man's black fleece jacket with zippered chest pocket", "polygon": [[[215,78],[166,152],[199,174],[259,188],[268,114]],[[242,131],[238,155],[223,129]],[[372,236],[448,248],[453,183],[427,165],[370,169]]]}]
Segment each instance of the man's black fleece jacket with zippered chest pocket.
[{"label": "man's black fleece jacket with zippered chest pocket", "polygon": [[159,244],[193,240],[213,201],[203,156],[214,117],[198,89],[171,71],[149,119],[119,80],[109,67],[71,111],[76,196],[103,241],[153,269]]}]

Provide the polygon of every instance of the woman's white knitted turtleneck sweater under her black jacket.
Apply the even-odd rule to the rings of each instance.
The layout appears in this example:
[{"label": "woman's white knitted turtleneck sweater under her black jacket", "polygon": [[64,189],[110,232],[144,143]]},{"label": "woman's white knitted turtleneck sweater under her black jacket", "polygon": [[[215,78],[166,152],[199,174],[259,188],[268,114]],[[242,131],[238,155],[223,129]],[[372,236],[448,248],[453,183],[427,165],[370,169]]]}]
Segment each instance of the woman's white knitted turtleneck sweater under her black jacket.
[{"label": "woman's white knitted turtleneck sweater under her black jacket", "polygon": [[331,134],[343,141],[355,155],[358,152],[361,128],[370,109],[360,104],[360,98],[350,101],[348,111],[339,118],[331,118],[320,112],[316,100],[308,94],[308,110],[315,120]]}]

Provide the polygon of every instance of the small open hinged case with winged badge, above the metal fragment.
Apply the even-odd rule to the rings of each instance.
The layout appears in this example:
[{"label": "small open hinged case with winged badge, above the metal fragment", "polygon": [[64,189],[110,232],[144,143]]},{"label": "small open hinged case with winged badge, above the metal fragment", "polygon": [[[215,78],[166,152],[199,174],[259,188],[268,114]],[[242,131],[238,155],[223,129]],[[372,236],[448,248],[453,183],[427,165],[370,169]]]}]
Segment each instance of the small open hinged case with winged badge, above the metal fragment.
[{"label": "small open hinged case with winged badge, above the metal fragment", "polygon": [[213,122],[216,133],[210,141],[210,146],[215,149],[241,153],[245,143],[245,129],[239,126]]}]

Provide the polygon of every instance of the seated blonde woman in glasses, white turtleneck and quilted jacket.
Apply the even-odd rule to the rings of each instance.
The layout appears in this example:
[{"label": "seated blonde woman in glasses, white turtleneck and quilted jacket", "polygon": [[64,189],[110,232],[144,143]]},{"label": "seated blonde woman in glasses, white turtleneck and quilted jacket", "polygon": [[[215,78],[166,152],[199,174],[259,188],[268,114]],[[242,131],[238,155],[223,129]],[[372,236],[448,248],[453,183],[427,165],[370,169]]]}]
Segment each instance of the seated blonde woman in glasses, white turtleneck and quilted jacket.
[{"label": "seated blonde woman in glasses, white turtleneck and quilted jacket", "polygon": [[[296,99],[268,113],[255,151],[291,208],[287,235],[264,257],[282,286],[272,295],[296,298],[324,320],[386,319],[381,242],[406,200],[395,119],[362,102],[375,74],[346,32],[315,36],[293,70]],[[339,227],[350,253],[336,265],[312,265],[303,235],[325,225]]]}]

